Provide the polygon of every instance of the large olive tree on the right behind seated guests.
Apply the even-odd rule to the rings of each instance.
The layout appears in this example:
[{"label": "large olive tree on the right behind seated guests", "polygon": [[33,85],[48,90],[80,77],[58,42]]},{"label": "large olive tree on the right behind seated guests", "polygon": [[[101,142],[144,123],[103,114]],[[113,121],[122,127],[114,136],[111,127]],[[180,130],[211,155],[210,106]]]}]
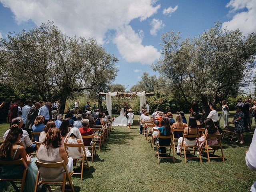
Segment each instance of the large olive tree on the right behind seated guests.
[{"label": "large olive tree on the right behind seated guests", "polygon": [[189,104],[220,102],[238,92],[255,66],[256,34],[222,30],[220,23],[193,39],[173,31],[162,35],[162,58],[152,68],[172,82],[173,93]]}]

